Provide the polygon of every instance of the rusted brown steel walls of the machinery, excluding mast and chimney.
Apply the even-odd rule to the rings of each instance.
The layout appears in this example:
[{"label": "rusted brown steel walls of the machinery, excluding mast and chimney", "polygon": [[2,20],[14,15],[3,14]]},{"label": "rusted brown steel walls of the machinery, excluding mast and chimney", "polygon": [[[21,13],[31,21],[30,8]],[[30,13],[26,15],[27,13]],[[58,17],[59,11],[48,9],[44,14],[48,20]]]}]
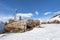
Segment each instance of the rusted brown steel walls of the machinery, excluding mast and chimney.
[{"label": "rusted brown steel walls of the machinery, excluding mast and chimney", "polygon": [[5,25],[5,31],[27,31],[27,29],[32,30],[34,27],[40,26],[39,20],[30,20],[30,21],[18,21],[11,22]]}]

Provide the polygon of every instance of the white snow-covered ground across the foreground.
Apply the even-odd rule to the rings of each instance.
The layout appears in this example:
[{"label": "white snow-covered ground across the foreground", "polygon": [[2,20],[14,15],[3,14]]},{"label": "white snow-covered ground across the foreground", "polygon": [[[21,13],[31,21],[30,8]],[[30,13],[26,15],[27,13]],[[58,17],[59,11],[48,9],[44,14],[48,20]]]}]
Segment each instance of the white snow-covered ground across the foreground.
[{"label": "white snow-covered ground across the foreground", "polygon": [[24,33],[1,34],[0,40],[60,40],[60,24],[42,24]]}]

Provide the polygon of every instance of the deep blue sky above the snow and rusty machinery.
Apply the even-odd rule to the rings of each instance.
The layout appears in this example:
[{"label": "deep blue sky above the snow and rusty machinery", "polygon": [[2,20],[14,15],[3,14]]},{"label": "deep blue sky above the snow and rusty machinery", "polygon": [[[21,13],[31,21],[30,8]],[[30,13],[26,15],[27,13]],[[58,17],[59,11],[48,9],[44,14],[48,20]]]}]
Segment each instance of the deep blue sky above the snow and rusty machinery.
[{"label": "deep blue sky above the snow and rusty machinery", "polygon": [[60,13],[60,0],[0,0],[0,17],[32,13],[32,18],[48,19]]}]

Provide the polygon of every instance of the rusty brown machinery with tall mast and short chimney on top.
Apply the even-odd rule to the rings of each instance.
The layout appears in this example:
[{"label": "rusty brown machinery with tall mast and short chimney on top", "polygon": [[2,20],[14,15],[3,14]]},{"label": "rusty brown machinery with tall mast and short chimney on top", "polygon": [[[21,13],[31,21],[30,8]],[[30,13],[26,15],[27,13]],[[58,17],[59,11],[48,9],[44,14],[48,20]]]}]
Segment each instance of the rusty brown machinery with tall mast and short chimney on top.
[{"label": "rusty brown machinery with tall mast and short chimney on top", "polygon": [[[17,13],[17,10],[16,10]],[[32,30],[34,27],[40,26],[39,20],[22,20],[21,16],[18,21],[16,20],[16,13],[14,14],[14,20],[9,20],[9,23],[5,23],[6,32],[25,32]]]}]

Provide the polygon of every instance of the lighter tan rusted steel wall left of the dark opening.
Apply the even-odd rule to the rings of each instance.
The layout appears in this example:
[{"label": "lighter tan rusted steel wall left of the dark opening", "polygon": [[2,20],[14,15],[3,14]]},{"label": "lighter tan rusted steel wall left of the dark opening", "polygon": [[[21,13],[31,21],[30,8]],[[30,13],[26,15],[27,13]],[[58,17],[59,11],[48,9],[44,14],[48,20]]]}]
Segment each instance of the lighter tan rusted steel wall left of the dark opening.
[{"label": "lighter tan rusted steel wall left of the dark opening", "polygon": [[6,31],[15,30],[15,29],[20,29],[21,31],[25,31],[26,30],[26,23],[12,22],[12,23],[8,23],[7,25],[5,25]]}]

